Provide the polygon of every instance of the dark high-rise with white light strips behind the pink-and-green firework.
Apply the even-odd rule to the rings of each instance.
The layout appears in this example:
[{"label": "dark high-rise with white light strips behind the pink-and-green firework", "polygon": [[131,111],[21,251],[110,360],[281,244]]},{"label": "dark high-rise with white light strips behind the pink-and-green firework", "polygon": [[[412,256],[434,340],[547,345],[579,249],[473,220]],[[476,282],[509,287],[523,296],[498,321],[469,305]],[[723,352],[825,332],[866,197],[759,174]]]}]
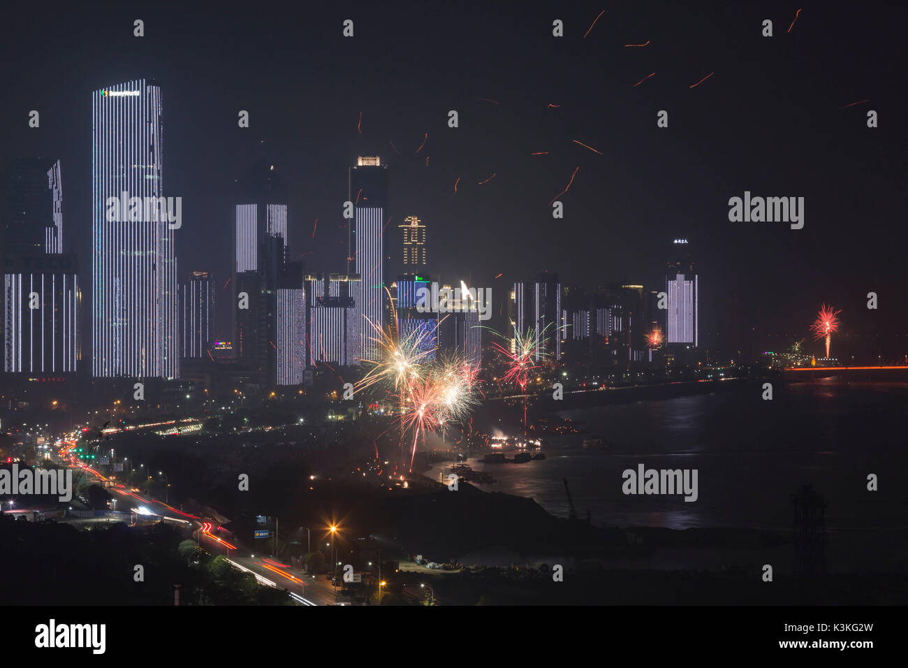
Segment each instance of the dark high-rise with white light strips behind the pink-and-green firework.
[{"label": "dark high-rise with white light strips behind the pink-and-green firework", "polygon": [[509,310],[512,331],[535,333],[537,360],[543,355],[561,359],[561,284],[557,274],[539,274],[533,282],[515,283]]}]

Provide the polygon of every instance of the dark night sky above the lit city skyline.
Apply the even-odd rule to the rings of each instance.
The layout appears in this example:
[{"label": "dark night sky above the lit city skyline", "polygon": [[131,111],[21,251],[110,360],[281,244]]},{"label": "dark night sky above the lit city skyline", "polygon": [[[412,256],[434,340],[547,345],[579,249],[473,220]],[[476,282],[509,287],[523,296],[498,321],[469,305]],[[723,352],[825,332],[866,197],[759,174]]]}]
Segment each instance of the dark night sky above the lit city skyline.
[{"label": "dark night sky above the lit city skyline", "polygon": [[[671,240],[685,237],[704,331],[802,336],[823,302],[843,309],[843,331],[908,328],[904,7],[161,5],[20,6],[0,28],[2,167],[18,155],[61,159],[64,239],[84,286],[91,93],[147,78],[162,88],[164,194],[183,197],[180,275],[229,276],[232,184],[262,156],[291,185],[292,257],[343,271],[347,170],[377,153],[390,165],[393,260],[397,225],[417,215],[429,225],[430,274],[448,280],[504,288],[548,270],[563,284],[664,289]],[[133,36],[136,18],[144,37]],[[347,18],[352,38],[341,35]],[[32,109],[38,129],[27,125]],[[248,129],[237,126],[241,109]],[[656,127],[663,109],[667,129]],[[559,198],[565,218],[553,220],[548,203],[577,167]],[[803,196],[804,229],[730,223],[728,199],[745,190]],[[878,312],[865,308],[869,291]]]}]

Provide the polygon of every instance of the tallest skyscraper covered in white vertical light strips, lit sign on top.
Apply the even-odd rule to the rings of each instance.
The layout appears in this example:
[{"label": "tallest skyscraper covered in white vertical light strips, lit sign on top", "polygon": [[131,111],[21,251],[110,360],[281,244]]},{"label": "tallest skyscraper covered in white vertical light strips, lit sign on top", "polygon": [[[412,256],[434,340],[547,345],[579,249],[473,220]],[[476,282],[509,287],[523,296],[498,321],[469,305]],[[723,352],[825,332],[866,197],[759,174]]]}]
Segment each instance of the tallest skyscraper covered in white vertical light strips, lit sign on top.
[{"label": "tallest skyscraper covered in white vertical light strips, lit sign on top", "polygon": [[[92,94],[95,377],[176,378],[174,231],[163,197],[161,89],[144,79]],[[141,220],[108,221],[110,198],[141,198]],[[121,201],[125,208],[126,204]],[[119,216],[123,218],[123,216]],[[132,216],[129,216],[132,217]]]}]

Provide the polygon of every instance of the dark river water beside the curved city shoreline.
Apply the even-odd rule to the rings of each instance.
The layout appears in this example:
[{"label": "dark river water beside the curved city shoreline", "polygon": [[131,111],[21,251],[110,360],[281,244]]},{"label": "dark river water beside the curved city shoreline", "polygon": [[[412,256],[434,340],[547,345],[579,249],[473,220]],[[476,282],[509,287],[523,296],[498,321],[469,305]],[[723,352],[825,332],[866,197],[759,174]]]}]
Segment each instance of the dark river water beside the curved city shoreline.
[{"label": "dark river water beside the curved city shoreline", "polygon": [[[811,484],[827,502],[829,530],[904,532],[908,528],[908,384],[817,381],[775,387],[772,401],[759,388],[735,387],[662,401],[566,410],[610,443],[607,451],[573,447],[546,451],[526,464],[482,464],[498,480],[489,492],[535,499],[567,517],[600,526],[746,527],[789,530],[790,497]],[[697,499],[683,495],[624,494],[622,472],[696,469]],[[441,468],[427,475],[439,480]],[[879,490],[868,491],[867,476]]]}]

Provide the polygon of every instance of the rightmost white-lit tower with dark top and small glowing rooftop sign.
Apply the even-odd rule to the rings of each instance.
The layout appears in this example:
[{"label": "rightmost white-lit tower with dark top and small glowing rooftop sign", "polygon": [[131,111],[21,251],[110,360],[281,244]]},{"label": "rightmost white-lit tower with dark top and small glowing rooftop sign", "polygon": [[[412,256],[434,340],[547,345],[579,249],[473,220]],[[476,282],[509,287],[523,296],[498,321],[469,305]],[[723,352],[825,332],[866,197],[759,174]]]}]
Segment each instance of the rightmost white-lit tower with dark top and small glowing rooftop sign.
[{"label": "rightmost white-lit tower with dark top and small glowing rooftop sign", "polygon": [[666,344],[699,344],[699,298],[690,244],[675,239],[666,272]]}]

